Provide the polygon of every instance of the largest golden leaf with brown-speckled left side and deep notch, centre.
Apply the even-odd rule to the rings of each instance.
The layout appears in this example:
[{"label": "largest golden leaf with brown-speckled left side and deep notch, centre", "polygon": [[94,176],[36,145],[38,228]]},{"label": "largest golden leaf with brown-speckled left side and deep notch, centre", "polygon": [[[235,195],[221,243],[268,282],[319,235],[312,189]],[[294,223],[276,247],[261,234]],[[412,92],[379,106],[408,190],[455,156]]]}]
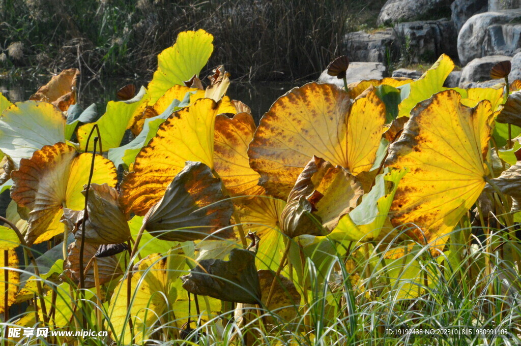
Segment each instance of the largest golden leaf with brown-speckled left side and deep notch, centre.
[{"label": "largest golden leaf with brown-speckled left side and deep notch, centre", "polygon": [[259,184],[287,199],[313,156],[348,169],[370,170],[384,131],[386,110],[374,90],[349,95],[330,84],[308,83],[280,97],[264,114],[248,151]]}]

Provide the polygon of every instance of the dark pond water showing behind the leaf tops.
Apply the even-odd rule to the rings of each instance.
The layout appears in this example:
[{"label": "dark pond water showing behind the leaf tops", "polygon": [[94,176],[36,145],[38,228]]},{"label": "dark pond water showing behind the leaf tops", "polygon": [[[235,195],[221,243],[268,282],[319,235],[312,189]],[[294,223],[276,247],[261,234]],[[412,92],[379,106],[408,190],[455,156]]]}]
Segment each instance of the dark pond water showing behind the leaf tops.
[{"label": "dark pond water showing behind the leaf tops", "polygon": [[[0,92],[11,102],[28,100],[41,85],[47,83],[49,76],[36,76],[31,79],[0,79]],[[116,99],[116,92],[123,85],[134,83],[137,88],[147,85],[143,78],[82,78],[78,86],[78,103],[84,108],[95,103],[98,112],[103,114],[108,101]],[[305,84],[297,82],[231,82],[227,95],[231,99],[240,100],[252,109],[253,117],[258,120],[269,110],[271,104],[295,86]]]}]

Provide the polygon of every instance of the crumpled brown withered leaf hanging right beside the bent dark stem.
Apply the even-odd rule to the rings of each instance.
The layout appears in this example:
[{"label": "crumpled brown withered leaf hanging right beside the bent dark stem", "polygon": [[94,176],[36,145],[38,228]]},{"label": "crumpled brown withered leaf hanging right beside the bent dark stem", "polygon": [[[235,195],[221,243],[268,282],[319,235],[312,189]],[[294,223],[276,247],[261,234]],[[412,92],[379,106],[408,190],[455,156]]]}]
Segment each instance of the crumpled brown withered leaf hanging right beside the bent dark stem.
[{"label": "crumpled brown withered leaf hanging right beside the bent dark stem", "polygon": [[[86,190],[82,191],[83,196]],[[67,212],[66,212],[67,211]],[[108,184],[91,184],[89,200],[87,202],[88,219],[85,221],[83,211],[74,213],[71,224],[85,223],[85,242],[96,245],[118,244],[126,242],[130,238],[130,228],[127,217],[123,214],[118,203],[118,192]],[[67,218],[72,212],[64,209],[64,217]],[[77,227],[76,239],[81,239],[83,225]]]}]

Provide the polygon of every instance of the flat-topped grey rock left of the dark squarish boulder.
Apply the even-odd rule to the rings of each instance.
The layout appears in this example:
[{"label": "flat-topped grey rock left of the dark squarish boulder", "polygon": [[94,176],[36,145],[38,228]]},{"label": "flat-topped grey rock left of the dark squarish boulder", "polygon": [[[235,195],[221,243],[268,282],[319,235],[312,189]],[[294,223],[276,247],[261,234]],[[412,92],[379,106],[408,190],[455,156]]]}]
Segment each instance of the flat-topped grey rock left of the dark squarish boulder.
[{"label": "flat-topped grey rock left of the dark squarish boulder", "polygon": [[345,35],[348,58],[351,61],[389,62],[398,55],[398,43],[392,28],[367,33],[356,31]]}]

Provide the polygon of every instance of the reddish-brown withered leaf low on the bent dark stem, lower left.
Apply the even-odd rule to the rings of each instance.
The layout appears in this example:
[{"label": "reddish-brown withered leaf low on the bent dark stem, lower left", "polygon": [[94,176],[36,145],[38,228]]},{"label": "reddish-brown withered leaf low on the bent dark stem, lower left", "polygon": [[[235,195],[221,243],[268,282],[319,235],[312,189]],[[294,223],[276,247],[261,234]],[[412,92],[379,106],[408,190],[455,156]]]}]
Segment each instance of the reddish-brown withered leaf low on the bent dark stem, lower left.
[{"label": "reddish-brown withered leaf low on the bent dark stem, lower left", "polygon": [[[67,260],[64,262],[64,273],[63,275],[70,278],[77,285],[80,283],[80,248],[81,240],[76,240],[72,244],[69,244],[67,251]],[[89,244],[85,242],[83,245],[83,270],[86,265],[94,257],[98,250],[98,245]],[[106,284],[109,281],[116,280],[118,277],[123,275],[121,268],[118,264],[118,259],[115,256],[96,258],[98,267],[98,279],[100,285]],[[91,265],[85,275],[85,287],[95,287],[94,283],[94,266]]]}]

